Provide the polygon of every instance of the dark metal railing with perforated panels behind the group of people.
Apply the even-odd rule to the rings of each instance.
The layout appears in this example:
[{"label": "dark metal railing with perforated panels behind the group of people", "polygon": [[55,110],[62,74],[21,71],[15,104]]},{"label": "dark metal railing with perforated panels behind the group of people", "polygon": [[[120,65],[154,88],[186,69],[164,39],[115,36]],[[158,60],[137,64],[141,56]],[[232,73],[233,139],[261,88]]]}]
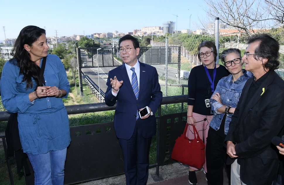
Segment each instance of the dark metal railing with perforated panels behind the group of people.
[{"label": "dark metal railing with perforated panels behind the group of people", "polygon": [[[161,105],[184,102],[187,102],[187,95],[168,96],[163,97]],[[108,107],[105,103],[93,103],[65,107],[70,115],[115,110],[116,105]],[[162,116],[161,106],[158,109],[157,162],[150,165],[150,167],[156,167],[157,175],[160,165],[175,162],[170,156],[175,139],[184,130],[186,122],[182,121],[182,118],[186,118],[186,114],[186,112],[179,112]],[[0,121],[7,121],[9,115],[7,111],[0,112]],[[70,127],[70,134],[71,144],[67,148],[64,184],[75,184],[124,173],[122,150],[114,132],[113,122]],[[1,138],[6,147],[5,137],[1,136]],[[8,158],[6,160],[10,174]],[[10,180],[13,181],[13,179]]]}]

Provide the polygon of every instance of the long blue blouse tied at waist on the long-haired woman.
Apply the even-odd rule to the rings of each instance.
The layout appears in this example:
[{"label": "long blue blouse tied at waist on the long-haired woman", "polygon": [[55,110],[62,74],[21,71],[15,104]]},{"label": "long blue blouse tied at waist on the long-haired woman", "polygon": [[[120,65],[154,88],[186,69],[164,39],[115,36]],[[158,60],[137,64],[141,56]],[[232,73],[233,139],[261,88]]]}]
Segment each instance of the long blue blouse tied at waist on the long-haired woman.
[{"label": "long blue blouse tied at waist on the long-haired woman", "polygon": [[[40,62],[40,67],[42,60]],[[19,75],[16,60],[5,63],[1,76],[1,97],[6,110],[18,113],[20,140],[25,153],[34,155],[65,149],[71,141],[69,119],[62,98],[42,97],[30,102],[28,94],[37,87],[26,90],[23,75]],[[56,55],[47,55],[44,72],[46,86],[56,86],[70,91],[64,66]]]}]

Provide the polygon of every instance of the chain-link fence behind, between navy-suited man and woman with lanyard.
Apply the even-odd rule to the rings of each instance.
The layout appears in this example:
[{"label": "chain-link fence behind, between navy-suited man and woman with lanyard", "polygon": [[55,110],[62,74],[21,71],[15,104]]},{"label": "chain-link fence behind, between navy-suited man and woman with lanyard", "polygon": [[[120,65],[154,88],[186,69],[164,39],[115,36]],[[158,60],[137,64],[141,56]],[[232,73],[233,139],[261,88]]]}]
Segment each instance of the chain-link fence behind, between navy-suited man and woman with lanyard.
[{"label": "chain-link fence behind, between navy-suited man and woman with lanyard", "polygon": [[201,64],[197,47],[206,40],[215,43],[215,36],[173,34],[161,42],[153,42],[153,47],[139,58],[140,62],[157,69],[163,96],[187,94],[189,73],[194,66]]}]

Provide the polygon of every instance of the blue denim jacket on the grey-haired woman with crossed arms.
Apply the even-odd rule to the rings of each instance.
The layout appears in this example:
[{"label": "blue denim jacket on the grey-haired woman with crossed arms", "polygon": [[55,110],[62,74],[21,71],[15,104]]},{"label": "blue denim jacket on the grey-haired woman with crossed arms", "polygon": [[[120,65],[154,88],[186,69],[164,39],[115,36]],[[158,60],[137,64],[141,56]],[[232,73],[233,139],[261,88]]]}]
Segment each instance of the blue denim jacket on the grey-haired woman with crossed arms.
[{"label": "blue denim jacket on the grey-haired woman with crossed arms", "polygon": [[[217,87],[213,93],[219,92],[221,103],[226,106],[230,107],[237,107],[239,97],[242,94],[242,89],[244,87],[244,84],[247,82],[247,79],[253,76],[253,74],[250,71],[245,71],[243,69],[244,74],[240,76],[234,83],[232,82],[233,76],[230,74],[229,76],[223,77],[217,84]],[[220,107],[223,105],[217,102],[214,99],[210,99],[211,103],[211,109],[214,112],[213,119],[210,122],[210,126],[218,130],[220,128],[221,121],[223,119],[223,116],[225,113],[220,113],[217,111]],[[227,132],[229,130],[229,124],[232,120],[232,113],[227,114],[226,120],[225,120],[225,135],[227,135]]]}]

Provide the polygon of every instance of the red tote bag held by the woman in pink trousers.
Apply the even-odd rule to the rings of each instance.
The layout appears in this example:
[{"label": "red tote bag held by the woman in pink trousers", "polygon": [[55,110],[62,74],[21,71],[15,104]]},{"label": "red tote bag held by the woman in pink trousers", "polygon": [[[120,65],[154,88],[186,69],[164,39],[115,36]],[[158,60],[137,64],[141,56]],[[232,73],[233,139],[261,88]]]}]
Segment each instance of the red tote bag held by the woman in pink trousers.
[{"label": "red tote bag held by the woman in pink trousers", "polygon": [[172,159],[200,169],[205,163],[205,144],[200,139],[195,126],[193,126],[194,139],[188,139],[186,137],[187,128],[188,124],[184,128],[183,134],[176,139],[172,150]]}]

